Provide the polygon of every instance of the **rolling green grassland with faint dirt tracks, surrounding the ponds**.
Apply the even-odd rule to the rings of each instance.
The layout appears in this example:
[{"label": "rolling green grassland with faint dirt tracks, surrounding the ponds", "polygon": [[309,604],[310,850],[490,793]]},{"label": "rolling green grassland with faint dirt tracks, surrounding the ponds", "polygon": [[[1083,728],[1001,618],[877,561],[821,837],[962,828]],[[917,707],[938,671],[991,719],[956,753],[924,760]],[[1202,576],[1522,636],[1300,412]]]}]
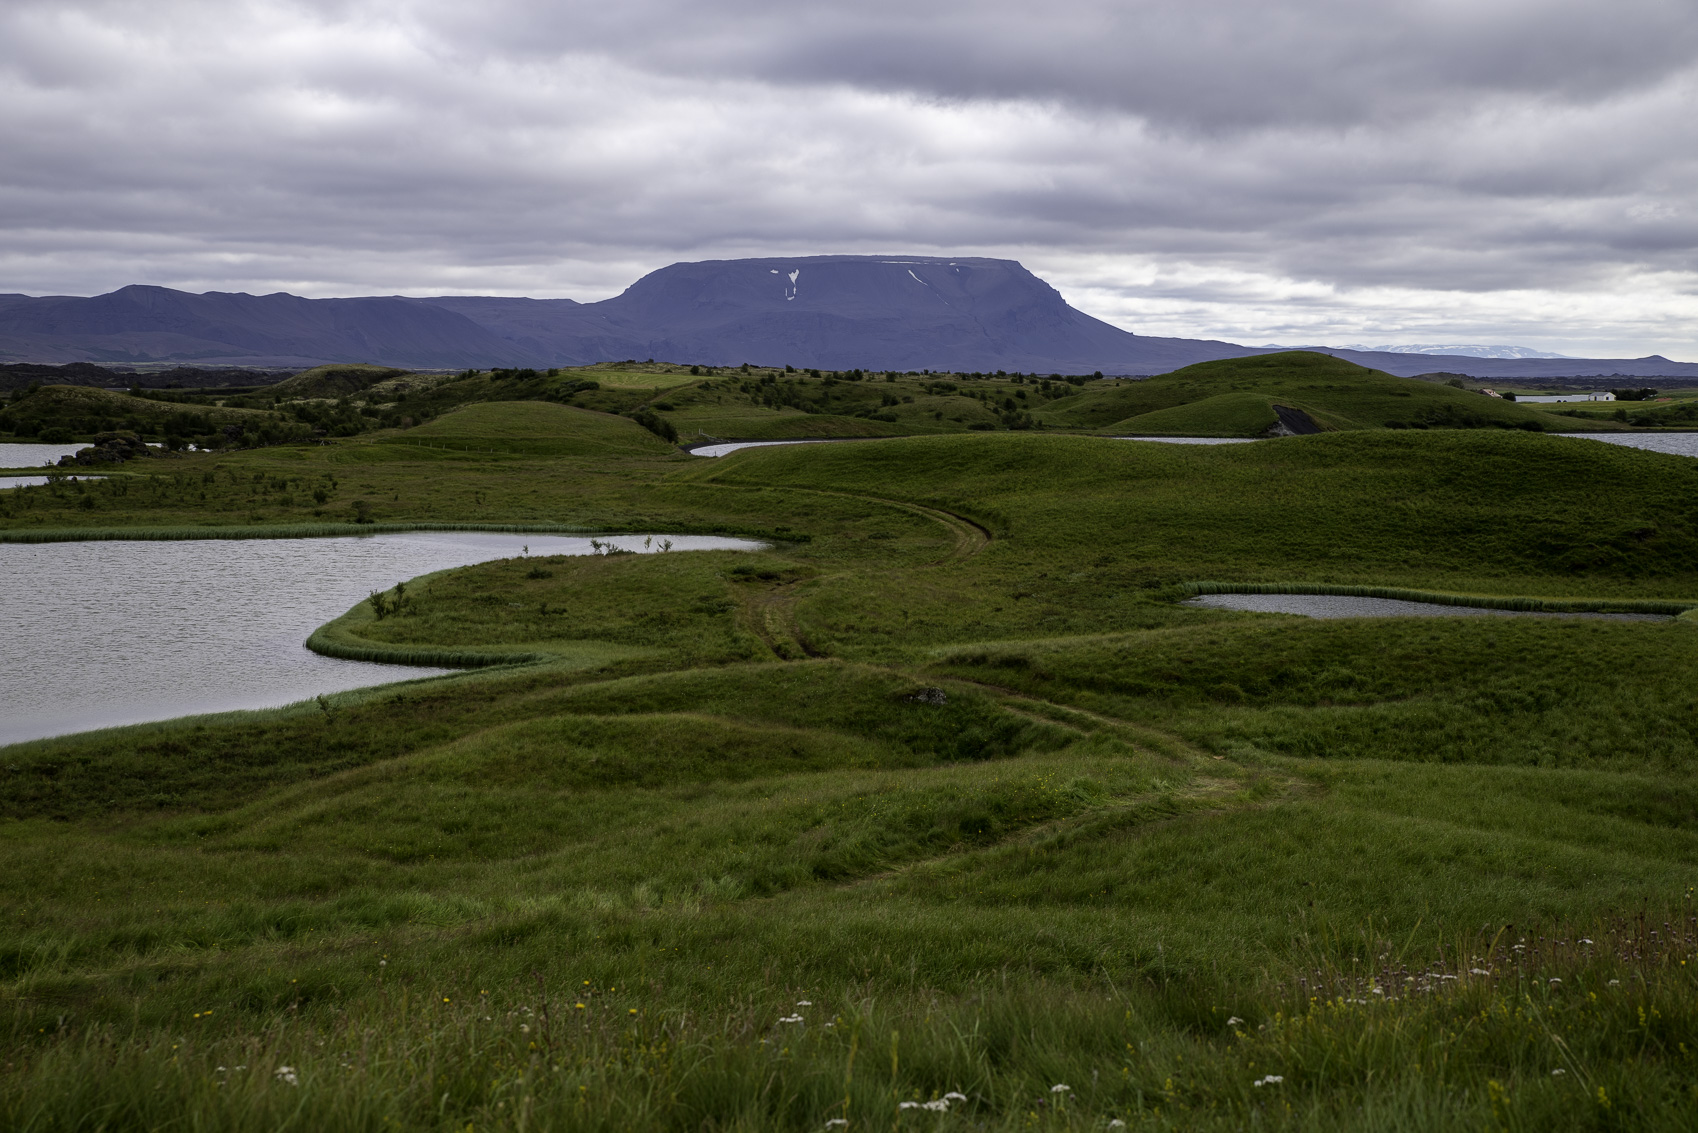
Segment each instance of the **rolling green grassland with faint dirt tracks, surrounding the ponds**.
[{"label": "rolling green grassland with faint dirt tracks, surrounding the ponds", "polygon": [[[936,428],[694,459],[608,382],[0,498],[0,538],[769,542],[414,579],[316,647],[475,668],[0,751],[0,1125],[1691,1128],[1698,625],[1180,605],[1690,603],[1691,460],[1370,428],[1380,379],[1297,397],[1331,370],[1155,408],[807,379],[914,382],[895,423],[688,377],[681,435]],[[1211,399],[1335,428],[1005,426]]]}]

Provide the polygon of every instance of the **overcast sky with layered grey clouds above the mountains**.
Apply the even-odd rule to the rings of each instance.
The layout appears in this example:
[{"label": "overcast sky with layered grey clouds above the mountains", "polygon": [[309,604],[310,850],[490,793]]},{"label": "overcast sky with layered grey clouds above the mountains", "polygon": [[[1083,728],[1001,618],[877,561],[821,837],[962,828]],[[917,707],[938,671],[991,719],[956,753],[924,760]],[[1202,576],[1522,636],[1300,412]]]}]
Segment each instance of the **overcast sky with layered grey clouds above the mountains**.
[{"label": "overcast sky with layered grey clouds above the mountains", "polygon": [[0,0],[0,290],[1012,256],[1150,335],[1698,360],[1695,0]]}]

